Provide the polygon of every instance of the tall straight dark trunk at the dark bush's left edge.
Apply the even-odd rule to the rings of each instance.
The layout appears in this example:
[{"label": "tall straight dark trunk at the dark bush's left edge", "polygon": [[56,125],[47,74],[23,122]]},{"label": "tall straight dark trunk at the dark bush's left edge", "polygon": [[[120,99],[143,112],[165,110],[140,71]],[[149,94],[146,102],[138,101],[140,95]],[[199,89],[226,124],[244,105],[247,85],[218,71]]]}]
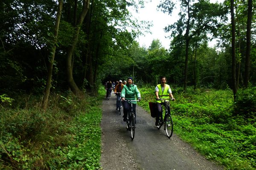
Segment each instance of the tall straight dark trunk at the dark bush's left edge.
[{"label": "tall straight dark trunk at the dark bush's left edge", "polygon": [[234,0],[231,0],[231,25],[232,25],[232,82],[233,82],[233,96],[236,100],[236,23],[234,14]]}]

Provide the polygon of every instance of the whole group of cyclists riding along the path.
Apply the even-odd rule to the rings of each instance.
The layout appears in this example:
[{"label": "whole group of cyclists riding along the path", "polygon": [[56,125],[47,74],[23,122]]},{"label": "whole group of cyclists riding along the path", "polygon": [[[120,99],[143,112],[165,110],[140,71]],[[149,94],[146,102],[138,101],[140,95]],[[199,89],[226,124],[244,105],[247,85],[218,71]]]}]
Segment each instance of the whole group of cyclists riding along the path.
[{"label": "whole group of cyclists riding along the path", "polygon": [[[157,102],[157,116],[156,116],[156,122],[155,125],[159,125],[159,117],[162,114],[162,105],[165,103],[163,102],[168,101],[169,97],[172,100],[175,100],[175,98],[172,95],[172,90],[169,85],[166,84],[167,79],[166,77],[160,78],[160,84],[158,84],[155,89],[155,96],[156,96],[156,102]],[[123,105],[123,121],[127,121],[127,113],[129,111],[129,103],[127,100],[141,100],[140,91],[137,88],[137,85],[134,84],[133,78],[128,77],[127,81],[119,80],[116,82],[108,81],[105,83],[106,88],[106,98],[108,98],[108,95],[111,94],[111,91],[113,90],[116,94],[116,111],[119,111],[119,108],[122,108]],[[110,94],[109,94],[110,93]],[[120,97],[121,96],[121,97]],[[122,100],[122,105],[120,105],[121,102],[119,100]],[[161,100],[160,100],[161,99]],[[135,123],[136,123],[136,105],[137,102],[132,102],[133,104],[133,111],[135,115]]]}]

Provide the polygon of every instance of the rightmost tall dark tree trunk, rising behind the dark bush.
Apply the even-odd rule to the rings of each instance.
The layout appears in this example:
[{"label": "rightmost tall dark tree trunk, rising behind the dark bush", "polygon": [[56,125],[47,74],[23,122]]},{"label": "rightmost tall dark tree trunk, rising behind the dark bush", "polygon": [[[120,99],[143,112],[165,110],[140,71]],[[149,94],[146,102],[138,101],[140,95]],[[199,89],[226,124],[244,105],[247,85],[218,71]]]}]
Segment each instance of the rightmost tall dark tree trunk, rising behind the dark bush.
[{"label": "rightmost tall dark tree trunk, rising behind the dark bush", "polygon": [[252,16],[253,16],[252,10],[253,10],[253,1],[248,0],[245,73],[244,73],[244,86],[246,88],[248,88],[249,76],[250,76],[251,25],[252,25]]}]

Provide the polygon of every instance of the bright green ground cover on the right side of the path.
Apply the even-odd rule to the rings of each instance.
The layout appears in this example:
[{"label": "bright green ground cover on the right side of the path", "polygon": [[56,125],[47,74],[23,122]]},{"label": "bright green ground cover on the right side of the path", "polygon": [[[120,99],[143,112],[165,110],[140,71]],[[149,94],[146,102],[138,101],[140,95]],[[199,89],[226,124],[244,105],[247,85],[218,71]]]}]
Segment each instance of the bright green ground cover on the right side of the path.
[{"label": "bright green ground cover on the right side of the path", "polygon": [[[154,87],[140,88],[143,106],[154,101]],[[174,133],[192,144],[207,159],[222,164],[227,170],[256,168],[256,119],[233,115],[231,90],[188,88],[172,89],[176,98],[171,102]]]}]

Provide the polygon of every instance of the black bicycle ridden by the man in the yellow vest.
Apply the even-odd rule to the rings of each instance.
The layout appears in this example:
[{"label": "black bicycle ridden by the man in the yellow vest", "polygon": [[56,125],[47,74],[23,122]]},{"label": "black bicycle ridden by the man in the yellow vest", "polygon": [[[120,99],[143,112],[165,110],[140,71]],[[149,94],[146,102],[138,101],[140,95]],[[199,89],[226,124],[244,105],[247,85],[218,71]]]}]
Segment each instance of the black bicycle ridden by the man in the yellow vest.
[{"label": "black bicycle ridden by the man in the yellow vest", "polygon": [[[159,119],[158,119],[158,125],[157,128],[160,129],[162,127],[162,125],[164,124],[164,130],[166,131],[166,135],[168,136],[168,138],[172,137],[172,133],[173,133],[173,122],[172,122],[172,116],[170,113],[170,102],[164,99],[161,99],[164,102],[164,106],[165,106],[165,115],[163,118],[163,107],[162,107],[162,114],[160,115]],[[172,100],[174,101],[175,99],[172,98]]]}]

